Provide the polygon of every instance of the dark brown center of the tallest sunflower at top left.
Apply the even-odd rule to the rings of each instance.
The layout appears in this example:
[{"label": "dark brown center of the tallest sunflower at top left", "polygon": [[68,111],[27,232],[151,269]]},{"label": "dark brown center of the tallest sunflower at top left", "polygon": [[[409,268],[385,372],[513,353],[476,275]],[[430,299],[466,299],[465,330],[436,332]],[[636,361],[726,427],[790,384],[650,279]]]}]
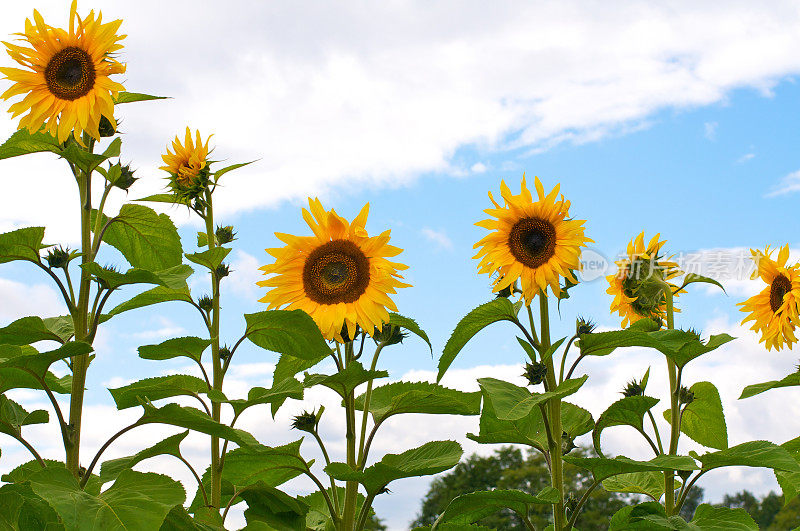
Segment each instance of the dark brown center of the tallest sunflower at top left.
[{"label": "dark brown center of the tallest sunflower at top left", "polygon": [[77,46],[56,53],[44,69],[47,88],[57,98],[76,100],[94,87],[96,73],[92,58]]}]

